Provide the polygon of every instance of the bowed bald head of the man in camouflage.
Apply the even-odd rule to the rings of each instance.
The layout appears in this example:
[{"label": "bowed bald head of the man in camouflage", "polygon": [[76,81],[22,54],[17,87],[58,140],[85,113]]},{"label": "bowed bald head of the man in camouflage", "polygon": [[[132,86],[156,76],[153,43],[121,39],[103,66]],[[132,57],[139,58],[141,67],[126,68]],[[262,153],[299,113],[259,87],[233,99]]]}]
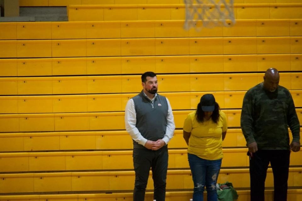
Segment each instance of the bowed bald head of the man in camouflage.
[{"label": "bowed bald head of the man in camouflage", "polygon": [[269,68],[266,70],[263,77],[263,87],[264,89],[274,92],[278,88],[279,85],[279,72],[276,68]]}]

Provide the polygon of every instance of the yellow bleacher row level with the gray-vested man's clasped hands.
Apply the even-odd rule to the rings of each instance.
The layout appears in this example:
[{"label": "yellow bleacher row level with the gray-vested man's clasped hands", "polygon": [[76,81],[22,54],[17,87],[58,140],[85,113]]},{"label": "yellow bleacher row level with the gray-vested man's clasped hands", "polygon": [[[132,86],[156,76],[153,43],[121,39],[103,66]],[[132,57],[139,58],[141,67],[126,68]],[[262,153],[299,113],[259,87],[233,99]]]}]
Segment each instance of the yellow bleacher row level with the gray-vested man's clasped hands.
[{"label": "yellow bleacher row level with the gray-vested man's clasped hands", "polygon": [[[301,135],[302,131],[300,131]],[[289,130],[289,137],[292,139]],[[129,134],[122,131],[68,131],[68,132],[26,132],[1,133],[0,151],[47,151],[47,150],[119,150],[132,149]],[[110,143],[115,141],[115,143]],[[246,141],[239,128],[229,128],[223,141],[224,148],[245,147]],[[186,148],[182,130],[174,132],[169,148]],[[295,157],[293,154],[292,157]],[[299,160],[297,160],[299,161]],[[293,161],[292,161],[293,162]]]}]

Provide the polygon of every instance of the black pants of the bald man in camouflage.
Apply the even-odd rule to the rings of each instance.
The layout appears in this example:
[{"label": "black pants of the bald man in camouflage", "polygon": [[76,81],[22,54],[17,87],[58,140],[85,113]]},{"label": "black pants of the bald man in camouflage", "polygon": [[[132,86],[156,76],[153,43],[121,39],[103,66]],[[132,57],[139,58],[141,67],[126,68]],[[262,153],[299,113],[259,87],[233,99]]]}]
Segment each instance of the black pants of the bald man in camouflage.
[{"label": "black pants of the bald man in camouflage", "polygon": [[264,201],[264,183],[268,164],[274,175],[274,201],[286,201],[289,150],[258,150],[249,160],[251,201]]}]

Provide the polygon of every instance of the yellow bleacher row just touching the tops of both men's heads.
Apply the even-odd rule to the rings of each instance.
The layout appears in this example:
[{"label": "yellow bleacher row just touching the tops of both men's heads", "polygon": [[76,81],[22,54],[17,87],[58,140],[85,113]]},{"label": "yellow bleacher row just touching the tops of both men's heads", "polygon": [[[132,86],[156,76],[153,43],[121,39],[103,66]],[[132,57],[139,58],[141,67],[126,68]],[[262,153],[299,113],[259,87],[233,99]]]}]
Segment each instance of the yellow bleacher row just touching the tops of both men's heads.
[{"label": "yellow bleacher row just touching the tops of both men's heads", "polygon": [[[110,68],[107,68],[110,66]],[[301,54],[0,59],[0,76],[301,71]],[[70,72],[72,68],[72,72]]]}]

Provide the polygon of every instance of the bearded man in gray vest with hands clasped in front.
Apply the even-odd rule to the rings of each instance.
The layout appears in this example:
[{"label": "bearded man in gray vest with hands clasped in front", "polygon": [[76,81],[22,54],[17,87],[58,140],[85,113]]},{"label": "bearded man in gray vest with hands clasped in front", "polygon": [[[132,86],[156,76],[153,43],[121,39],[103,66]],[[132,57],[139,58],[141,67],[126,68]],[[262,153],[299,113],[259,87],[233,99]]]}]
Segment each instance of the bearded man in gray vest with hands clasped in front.
[{"label": "bearded man in gray vest with hands clasped in front", "polygon": [[150,168],[154,199],[164,201],[168,169],[167,144],[175,130],[174,117],[169,100],[156,93],[155,73],[143,73],[142,86],[142,92],[128,100],[125,109],[126,130],[133,139],[133,201],[145,199]]}]

